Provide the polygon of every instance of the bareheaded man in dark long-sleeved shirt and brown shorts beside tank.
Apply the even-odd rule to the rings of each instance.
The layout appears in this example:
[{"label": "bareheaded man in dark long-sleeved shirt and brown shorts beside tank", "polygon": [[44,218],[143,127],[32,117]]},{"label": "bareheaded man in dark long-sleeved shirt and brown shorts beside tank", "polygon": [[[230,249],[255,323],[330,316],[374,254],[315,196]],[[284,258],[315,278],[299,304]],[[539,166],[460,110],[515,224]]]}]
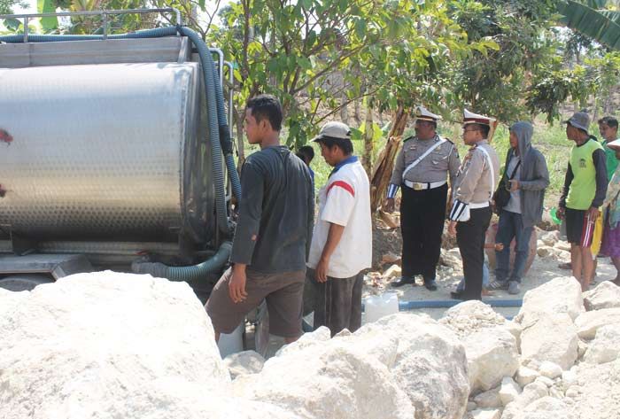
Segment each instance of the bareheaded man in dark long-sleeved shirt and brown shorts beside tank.
[{"label": "bareheaded man in dark long-sleeved shirt and brown shorts beside tank", "polygon": [[314,224],[314,188],[306,164],[280,145],[282,107],[270,95],[250,99],[245,132],[260,151],[241,171],[239,218],[229,268],[206,302],[215,339],[231,333],[265,299],[269,330],[301,336],[306,257]]}]

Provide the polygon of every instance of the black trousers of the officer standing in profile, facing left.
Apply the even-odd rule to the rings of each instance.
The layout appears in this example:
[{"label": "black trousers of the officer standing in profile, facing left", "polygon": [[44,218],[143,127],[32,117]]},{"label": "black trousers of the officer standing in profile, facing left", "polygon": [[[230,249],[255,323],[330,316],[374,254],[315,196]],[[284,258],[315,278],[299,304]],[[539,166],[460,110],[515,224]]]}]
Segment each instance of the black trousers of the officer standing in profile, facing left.
[{"label": "black trousers of the officer standing in profile, facing left", "polygon": [[491,222],[491,207],[469,211],[469,221],[456,224],[456,243],[463,260],[465,299],[482,299],[482,269],[484,264],[484,235]]}]

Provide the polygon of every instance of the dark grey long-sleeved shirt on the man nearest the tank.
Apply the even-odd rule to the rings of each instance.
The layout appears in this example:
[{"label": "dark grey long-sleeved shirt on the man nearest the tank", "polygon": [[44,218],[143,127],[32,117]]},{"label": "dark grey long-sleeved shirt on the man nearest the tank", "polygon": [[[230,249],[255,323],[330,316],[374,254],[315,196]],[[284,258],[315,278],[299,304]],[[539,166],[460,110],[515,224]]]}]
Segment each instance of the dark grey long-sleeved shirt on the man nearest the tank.
[{"label": "dark grey long-sleeved shirt on the man nearest the tank", "polygon": [[306,269],[314,186],[306,164],[283,145],[251,154],[241,171],[232,263],[261,274]]}]

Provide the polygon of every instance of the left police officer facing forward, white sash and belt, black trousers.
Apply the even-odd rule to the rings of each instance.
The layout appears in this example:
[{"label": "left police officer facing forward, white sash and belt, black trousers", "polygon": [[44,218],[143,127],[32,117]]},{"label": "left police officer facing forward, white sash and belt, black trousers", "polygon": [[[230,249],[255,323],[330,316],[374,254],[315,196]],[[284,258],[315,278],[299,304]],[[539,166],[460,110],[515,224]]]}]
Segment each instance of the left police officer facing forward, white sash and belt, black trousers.
[{"label": "left police officer facing forward, white sash and belt, black trousers", "polygon": [[391,175],[387,212],[394,210],[394,196],[402,189],[402,276],[391,283],[394,287],[415,285],[415,275],[422,275],[424,286],[437,290],[435,269],[446,219],[447,175],[453,184],[460,164],[456,146],[438,136],[438,120],[439,115],[418,106],[415,136],[405,140]]}]

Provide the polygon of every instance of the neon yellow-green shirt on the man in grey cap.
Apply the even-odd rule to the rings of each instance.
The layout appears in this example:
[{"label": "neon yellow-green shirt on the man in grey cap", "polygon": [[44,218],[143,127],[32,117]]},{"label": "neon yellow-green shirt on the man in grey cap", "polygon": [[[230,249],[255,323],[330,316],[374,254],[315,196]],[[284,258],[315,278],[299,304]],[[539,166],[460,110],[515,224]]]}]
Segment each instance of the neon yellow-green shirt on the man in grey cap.
[{"label": "neon yellow-green shirt on the man in grey cap", "polygon": [[592,206],[596,194],[596,167],[593,152],[602,150],[596,140],[588,140],[580,146],[574,145],[570,151],[570,170],[574,176],[566,197],[567,208],[586,210]]}]

